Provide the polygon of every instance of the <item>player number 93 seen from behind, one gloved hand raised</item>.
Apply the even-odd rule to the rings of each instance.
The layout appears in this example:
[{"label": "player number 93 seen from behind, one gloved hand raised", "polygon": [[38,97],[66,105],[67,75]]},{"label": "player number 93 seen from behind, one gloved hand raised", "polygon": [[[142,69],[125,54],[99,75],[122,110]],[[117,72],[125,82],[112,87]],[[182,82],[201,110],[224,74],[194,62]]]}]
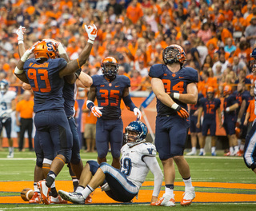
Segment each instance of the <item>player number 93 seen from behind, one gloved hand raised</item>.
[{"label": "player number 93 seen from behind, one gloved hand raised", "polygon": [[[26,50],[14,71],[22,82],[30,83],[34,91],[34,123],[44,157],[47,153],[48,156],[54,154],[54,151],[58,153],[51,164],[46,181],[38,182],[45,204],[49,203],[50,187],[54,185],[55,177],[71,158],[73,141],[64,111],[63,77],[79,70],[90,55],[92,44],[97,37],[97,28],[85,27],[89,40],[77,60],[67,63],[65,59],[58,58],[58,53],[65,51],[63,47],[58,46],[57,50],[51,42],[42,41]],[[28,59],[32,53],[35,59]]]}]

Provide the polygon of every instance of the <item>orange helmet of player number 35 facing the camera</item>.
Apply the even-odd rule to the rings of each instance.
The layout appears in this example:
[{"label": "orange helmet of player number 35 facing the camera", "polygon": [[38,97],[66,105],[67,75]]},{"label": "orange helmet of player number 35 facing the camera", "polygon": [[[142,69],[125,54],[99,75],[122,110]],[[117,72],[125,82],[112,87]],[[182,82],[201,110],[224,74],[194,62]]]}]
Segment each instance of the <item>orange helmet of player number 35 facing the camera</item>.
[{"label": "orange helmet of player number 35 facing the camera", "polygon": [[118,60],[113,57],[104,58],[102,61],[102,74],[106,78],[115,78],[118,74]]}]

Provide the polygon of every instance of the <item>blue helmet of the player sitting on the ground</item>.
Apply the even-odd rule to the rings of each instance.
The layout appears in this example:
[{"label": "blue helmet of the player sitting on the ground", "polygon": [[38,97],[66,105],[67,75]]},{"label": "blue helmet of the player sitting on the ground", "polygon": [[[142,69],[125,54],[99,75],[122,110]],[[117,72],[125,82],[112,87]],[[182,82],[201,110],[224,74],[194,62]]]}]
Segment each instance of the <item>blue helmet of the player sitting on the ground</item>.
[{"label": "blue helmet of the player sitting on the ground", "polygon": [[[130,137],[129,131],[133,131],[137,133],[136,137]],[[142,143],[146,141],[146,135],[147,135],[147,127],[142,121],[132,121],[130,124],[126,127],[126,133],[124,135],[124,141],[127,143],[127,145],[134,146],[138,145],[139,143]],[[133,140],[133,141],[130,141]]]}]

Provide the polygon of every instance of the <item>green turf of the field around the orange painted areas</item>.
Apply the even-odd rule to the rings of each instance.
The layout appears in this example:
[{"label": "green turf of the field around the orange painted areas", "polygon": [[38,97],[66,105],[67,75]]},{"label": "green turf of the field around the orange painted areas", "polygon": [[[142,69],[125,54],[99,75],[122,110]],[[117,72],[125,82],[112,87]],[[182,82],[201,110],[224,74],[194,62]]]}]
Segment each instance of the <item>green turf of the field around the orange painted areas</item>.
[{"label": "green turf of the field around the orange painted areas", "polygon": [[[192,181],[201,182],[228,182],[228,183],[246,183],[255,186],[256,175],[250,169],[246,168],[242,157],[223,157],[223,151],[218,152],[217,157],[186,157],[189,162]],[[13,159],[7,159],[7,149],[0,152],[0,181],[33,181],[35,154],[32,152],[15,152]],[[96,153],[81,153],[82,161],[96,159]],[[110,161],[110,153],[108,154]],[[162,165],[160,164],[162,167]],[[176,169],[177,170],[177,169]],[[70,180],[68,168],[65,166],[57,177],[58,180]],[[148,174],[146,181],[154,181],[152,173]],[[176,171],[176,181],[182,181],[182,177]],[[142,189],[149,189],[142,187]],[[164,189],[164,187],[162,187]],[[183,191],[184,187],[176,185],[175,191]],[[255,189],[225,189],[212,187],[196,187],[197,193],[238,193],[252,194],[255,196],[255,202],[229,202],[229,203],[199,203],[193,202],[189,207],[182,207],[176,203],[176,207],[150,207],[149,204],[135,205],[26,205],[26,204],[1,204],[1,197],[10,195],[4,193],[0,187],[0,211],[1,210],[256,210],[256,190]],[[12,196],[18,196],[19,192],[11,193]],[[160,196],[161,197],[161,196]]]}]

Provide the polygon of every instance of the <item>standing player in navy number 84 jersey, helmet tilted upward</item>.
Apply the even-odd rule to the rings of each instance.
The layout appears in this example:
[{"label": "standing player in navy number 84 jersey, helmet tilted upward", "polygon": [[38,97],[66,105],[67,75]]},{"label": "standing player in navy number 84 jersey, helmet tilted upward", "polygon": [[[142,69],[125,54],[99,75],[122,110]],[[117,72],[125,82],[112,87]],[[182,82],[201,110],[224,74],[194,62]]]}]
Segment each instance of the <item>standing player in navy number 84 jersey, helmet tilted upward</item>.
[{"label": "standing player in navy number 84 jersey, helmet tilted upward", "polygon": [[166,193],[155,205],[174,206],[174,161],[185,183],[181,205],[190,205],[195,197],[190,166],[183,156],[190,126],[187,104],[198,101],[198,71],[182,66],[186,54],[181,46],[170,45],[162,52],[164,64],[150,67],[152,89],[157,97],[155,145],[162,161]]}]

